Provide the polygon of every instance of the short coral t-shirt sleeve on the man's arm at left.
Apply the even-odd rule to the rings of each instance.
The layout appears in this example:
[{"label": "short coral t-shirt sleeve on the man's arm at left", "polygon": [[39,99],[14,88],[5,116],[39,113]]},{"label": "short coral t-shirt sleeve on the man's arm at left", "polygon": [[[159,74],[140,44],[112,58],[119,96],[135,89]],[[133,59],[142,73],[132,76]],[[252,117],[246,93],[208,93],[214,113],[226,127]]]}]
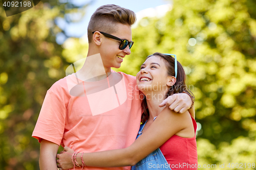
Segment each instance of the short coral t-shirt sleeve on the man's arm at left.
[{"label": "short coral t-shirt sleeve on the man's arm at left", "polygon": [[65,129],[65,118],[65,102],[48,90],[32,137],[38,139],[39,143],[41,139],[45,139],[60,145]]}]

